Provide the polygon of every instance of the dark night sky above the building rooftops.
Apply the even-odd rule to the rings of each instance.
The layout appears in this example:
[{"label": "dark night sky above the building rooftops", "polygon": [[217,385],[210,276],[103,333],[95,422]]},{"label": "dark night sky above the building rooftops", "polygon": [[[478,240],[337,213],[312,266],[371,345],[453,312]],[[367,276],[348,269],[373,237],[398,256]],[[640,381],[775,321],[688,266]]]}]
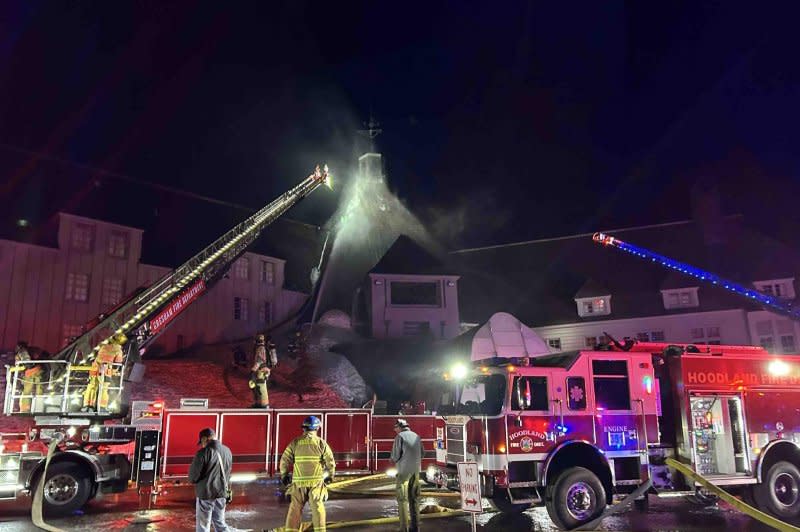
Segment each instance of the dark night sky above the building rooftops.
[{"label": "dark night sky above the building rooftops", "polygon": [[701,178],[795,244],[797,8],[668,4],[2,2],[4,223],[86,201],[9,147],[259,207],[318,160],[350,175],[372,111],[450,246],[685,219]]}]

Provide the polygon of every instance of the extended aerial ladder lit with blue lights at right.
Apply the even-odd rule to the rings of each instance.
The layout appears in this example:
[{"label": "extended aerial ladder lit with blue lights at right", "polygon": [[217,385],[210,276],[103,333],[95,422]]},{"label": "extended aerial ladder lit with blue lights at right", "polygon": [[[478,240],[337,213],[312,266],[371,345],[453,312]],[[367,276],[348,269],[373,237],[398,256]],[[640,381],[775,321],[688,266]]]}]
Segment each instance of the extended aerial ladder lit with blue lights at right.
[{"label": "extended aerial ladder lit with blue lights at right", "polygon": [[759,303],[767,310],[787,316],[795,321],[800,321],[800,307],[793,305],[789,300],[782,299],[774,295],[765,294],[763,292],[759,292],[758,290],[753,290],[752,288],[748,288],[734,281],[724,279],[714,273],[702,270],[690,264],[686,264],[685,262],[680,262],[643,247],[623,242],[622,240],[605,233],[595,233],[592,236],[592,240],[598,244],[622,250],[636,257],[655,262],[666,268],[673,269],[706,283],[718,286],[740,297]]}]

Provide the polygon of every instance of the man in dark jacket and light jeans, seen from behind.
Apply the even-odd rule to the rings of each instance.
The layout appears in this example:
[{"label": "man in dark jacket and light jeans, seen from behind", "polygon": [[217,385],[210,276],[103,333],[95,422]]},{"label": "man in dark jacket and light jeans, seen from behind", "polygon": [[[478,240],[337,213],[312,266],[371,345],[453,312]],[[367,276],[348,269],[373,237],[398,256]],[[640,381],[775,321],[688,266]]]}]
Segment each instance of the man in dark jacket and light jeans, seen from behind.
[{"label": "man in dark jacket and light jeans, seen from behind", "polygon": [[201,430],[197,445],[202,448],[194,455],[189,467],[189,482],[194,484],[197,497],[196,531],[210,532],[213,523],[216,532],[228,532],[225,499],[230,485],[233,455],[228,447],[217,441],[214,429]]}]

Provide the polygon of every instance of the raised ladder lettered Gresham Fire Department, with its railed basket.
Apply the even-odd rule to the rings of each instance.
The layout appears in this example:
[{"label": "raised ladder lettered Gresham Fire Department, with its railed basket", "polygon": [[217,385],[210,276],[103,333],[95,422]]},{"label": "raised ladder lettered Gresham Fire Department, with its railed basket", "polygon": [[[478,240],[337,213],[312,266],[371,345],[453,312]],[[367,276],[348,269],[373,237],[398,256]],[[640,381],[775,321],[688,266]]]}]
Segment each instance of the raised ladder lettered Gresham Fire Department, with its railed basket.
[{"label": "raised ladder lettered Gresham Fire Department, with its railed basket", "polygon": [[[97,320],[89,330],[74,339],[50,360],[34,360],[8,368],[4,412],[6,415],[54,418],[124,418],[128,415],[128,395],[124,383],[141,379],[140,364],[144,348],[155,340],[173,320],[198,297],[207,292],[229,270],[233,262],[258,238],[262,229],[278,219],[321,184],[330,186],[327,165],[283,193],[261,210],[217,238],[184,264],[151,286],[135,292],[127,301]],[[82,401],[92,363],[100,350],[124,335],[121,361],[110,364],[113,382],[106,383],[116,400],[87,408]],[[23,371],[39,365],[48,371],[44,394],[21,393]],[[96,364],[94,371],[97,371]],[[101,372],[100,378],[106,378]],[[23,402],[28,406],[21,408]],[[32,403],[32,406],[31,406]],[[88,410],[88,411],[87,411]]]}]

